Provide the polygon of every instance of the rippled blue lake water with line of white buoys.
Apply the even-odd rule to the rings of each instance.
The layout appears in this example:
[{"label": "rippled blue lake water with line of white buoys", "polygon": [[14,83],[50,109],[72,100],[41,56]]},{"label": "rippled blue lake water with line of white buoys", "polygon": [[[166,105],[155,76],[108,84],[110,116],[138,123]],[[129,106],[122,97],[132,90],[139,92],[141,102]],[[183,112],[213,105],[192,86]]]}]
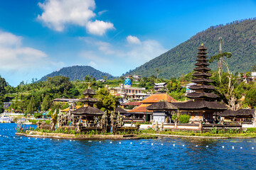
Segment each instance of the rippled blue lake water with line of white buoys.
[{"label": "rippled blue lake water with line of white buoys", "polygon": [[70,142],[19,137],[15,127],[0,124],[1,169],[256,169],[256,139]]}]

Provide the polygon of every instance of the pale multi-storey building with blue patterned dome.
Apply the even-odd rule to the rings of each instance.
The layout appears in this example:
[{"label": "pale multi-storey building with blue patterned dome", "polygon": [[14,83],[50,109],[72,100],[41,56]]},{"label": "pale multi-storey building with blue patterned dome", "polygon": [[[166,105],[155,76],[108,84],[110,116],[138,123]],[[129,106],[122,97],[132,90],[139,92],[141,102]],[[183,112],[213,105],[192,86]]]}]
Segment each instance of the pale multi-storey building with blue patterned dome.
[{"label": "pale multi-storey building with blue patterned dome", "polygon": [[149,94],[145,94],[145,88],[142,87],[132,87],[132,81],[130,79],[125,79],[124,84],[120,84],[119,87],[109,88],[110,94],[115,96],[121,96],[124,101],[142,101],[144,98],[148,97]]}]

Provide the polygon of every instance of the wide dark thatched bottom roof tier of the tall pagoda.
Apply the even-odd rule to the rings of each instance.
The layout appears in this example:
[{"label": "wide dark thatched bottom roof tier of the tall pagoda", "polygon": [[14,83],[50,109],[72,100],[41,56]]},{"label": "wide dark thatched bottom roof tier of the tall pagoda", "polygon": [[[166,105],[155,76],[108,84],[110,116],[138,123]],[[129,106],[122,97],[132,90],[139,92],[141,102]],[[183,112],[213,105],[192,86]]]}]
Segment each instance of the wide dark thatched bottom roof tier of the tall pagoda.
[{"label": "wide dark thatched bottom roof tier of the tall pagoda", "polygon": [[223,111],[228,107],[218,103],[217,101],[187,101],[184,103],[173,103],[178,109],[186,110],[212,110],[212,111]]}]

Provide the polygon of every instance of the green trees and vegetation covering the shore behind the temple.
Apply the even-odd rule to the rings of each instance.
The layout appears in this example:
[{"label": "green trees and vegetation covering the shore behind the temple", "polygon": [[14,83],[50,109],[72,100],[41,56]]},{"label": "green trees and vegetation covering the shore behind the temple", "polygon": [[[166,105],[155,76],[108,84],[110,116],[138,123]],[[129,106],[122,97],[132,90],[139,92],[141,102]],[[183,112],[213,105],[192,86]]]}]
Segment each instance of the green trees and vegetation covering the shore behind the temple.
[{"label": "green trees and vegetation covering the shore behind the temple", "polygon": [[[243,77],[250,77],[250,72],[245,74],[231,74],[228,72],[222,72],[219,75],[218,71],[211,71],[213,74],[210,79],[213,79],[213,86],[215,86],[215,94],[220,96],[218,101],[222,101],[230,108],[255,108],[256,105],[256,84],[254,81],[246,83],[243,81]],[[166,91],[170,96],[177,101],[185,101],[186,87],[185,85],[191,82],[193,72],[181,76],[178,79],[157,79],[154,75],[151,77],[143,77],[138,82],[133,83],[132,86],[145,87],[145,93],[154,93],[154,83],[166,82]],[[229,80],[228,77],[231,77]],[[80,98],[82,91],[89,86],[99,93],[99,89],[106,89],[105,86],[112,88],[119,86],[124,81],[124,77],[119,79],[107,80],[106,82],[95,81],[92,77],[85,77],[87,81],[70,81],[67,77],[50,77],[46,81],[32,80],[30,84],[24,84],[21,82],[16,87],[9,86],[4,78],[0,79],[0,109],[4,111],[3,102],[12,102],[9,111],[13,108],[15,111],[21,113],[35,113],[49,111],[49,115],[55,109],[68,108],[68,103],[53,103],[54,98]],[[231,84],[232,91],[230,91],[229,84]],[[102,90],[104,91],[104,90]],[[166,91],[163,91],[166,93]],[[105,94],[108,92],[105,90]],[[109,98],[111,100],[111,98]],[[117,97],[114,100],[118,100]],[[233,106],[230,105],[233,103]],[[82,103],[77,103],[81,105]],[[117,106],[115,103],[114,106]],[[113,106],[113,107],[114,107]],[[97,107],[102,108],[102,105]],[[42,113],[36,113],[35,117],[41,117]]]}]

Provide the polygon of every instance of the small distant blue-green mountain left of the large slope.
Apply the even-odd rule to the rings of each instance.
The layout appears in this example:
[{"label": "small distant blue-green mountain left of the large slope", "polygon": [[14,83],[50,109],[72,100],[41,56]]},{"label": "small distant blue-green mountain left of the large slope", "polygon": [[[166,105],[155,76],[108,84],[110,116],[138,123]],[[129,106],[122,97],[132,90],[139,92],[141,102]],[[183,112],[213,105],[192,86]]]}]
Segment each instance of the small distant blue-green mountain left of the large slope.
[{"label": "small distant blue-green mountain left of the large slope", "polygon": [[39,81],[46,81],[47,77],[63,76],[69,77],[70,81],[85,80],[85,76],[92,76],[96,79],[103,79],[102,77],[107,77],[107,79],[113,79],[114,77],[108,73],[100,72],[97,69],[94,69],[90,66],[72,66],[72,67],[63,67],[62,69],[47,74],[42,77]]}]

